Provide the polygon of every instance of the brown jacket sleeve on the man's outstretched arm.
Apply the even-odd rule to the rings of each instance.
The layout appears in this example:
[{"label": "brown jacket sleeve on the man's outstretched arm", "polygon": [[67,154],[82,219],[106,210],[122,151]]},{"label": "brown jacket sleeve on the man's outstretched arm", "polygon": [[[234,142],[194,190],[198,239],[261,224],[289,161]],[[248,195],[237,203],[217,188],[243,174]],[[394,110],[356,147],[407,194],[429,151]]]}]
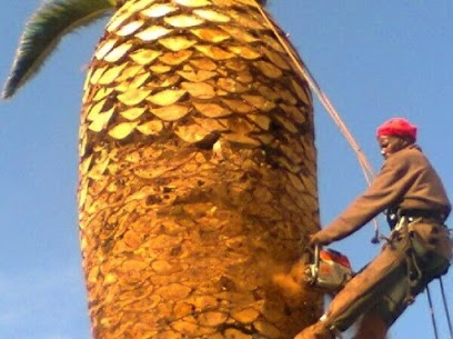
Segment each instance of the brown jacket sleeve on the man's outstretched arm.
[{"label": "brown jacket sleeve on the man's outstretched arm", "polygon": [[395,153],[387,158],[369,189],[356,198],[334,221],[316,233],[330,243],[355,232],[380,212],[395,205],[407,189],[407,161]]}]

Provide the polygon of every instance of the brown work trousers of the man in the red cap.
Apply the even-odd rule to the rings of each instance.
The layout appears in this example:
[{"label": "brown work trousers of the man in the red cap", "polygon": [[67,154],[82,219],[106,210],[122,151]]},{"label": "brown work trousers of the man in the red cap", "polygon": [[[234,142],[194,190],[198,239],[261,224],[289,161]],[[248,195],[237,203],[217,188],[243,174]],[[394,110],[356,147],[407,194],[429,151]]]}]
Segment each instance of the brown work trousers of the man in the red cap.
[{"label": "brown work trousers of the man in the red cap", "polygon": [[378,257],[335,296],[323,316],[328,327],[344,331],[362,315],[373,315],[389,328],[411,298],[447,271],[452,257],[447,229],[422,222],[406,227],[392,232]]}]

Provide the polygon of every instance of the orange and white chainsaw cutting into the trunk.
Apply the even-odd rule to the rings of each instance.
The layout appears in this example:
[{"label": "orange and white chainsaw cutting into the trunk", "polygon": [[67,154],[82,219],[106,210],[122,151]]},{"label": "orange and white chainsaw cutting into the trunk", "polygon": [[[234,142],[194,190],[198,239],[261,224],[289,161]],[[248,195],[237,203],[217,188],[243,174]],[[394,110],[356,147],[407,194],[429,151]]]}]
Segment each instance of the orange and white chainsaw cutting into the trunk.
[{"label": "orange and white chainsaw cutting into the trunk", "polygon": [[319,245],[311,251],[304,269],[305,282],[329,293],[340,291],[353,275],[346,256],[332,249],[321,249]]}]

